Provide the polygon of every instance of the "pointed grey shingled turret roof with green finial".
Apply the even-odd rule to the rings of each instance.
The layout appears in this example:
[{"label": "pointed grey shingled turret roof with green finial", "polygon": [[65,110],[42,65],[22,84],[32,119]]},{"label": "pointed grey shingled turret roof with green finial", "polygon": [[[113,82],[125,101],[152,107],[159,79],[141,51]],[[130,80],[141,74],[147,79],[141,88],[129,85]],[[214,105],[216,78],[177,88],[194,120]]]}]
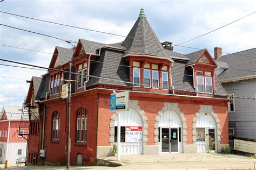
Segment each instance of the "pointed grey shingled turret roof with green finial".
[{"label": "pointed grey shingled turret roof with green finial", "polygon": [[169,58],[164,52],[164,47],[161,45],[161,42],[157,38],[149,22],[147,22],[144,9],[140,10],[136,23],[133,25],[122,45],[129,51],[125,52],[124,55],[148,54]]}]

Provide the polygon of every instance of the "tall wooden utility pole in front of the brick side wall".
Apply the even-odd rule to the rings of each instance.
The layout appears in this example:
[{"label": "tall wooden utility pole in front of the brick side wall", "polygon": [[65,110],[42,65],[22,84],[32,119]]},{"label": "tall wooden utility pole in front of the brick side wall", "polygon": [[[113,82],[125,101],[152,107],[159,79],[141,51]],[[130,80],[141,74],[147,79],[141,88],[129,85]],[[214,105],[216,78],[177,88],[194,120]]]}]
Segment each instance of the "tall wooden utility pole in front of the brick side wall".
[{"label": "tall wooden utility pole in front of the brick side wall", "polygon": [[66,168],[70,168],[70,101],[71,101],[71,60],[69,61],[69,90],[68,90],[68,137],[67,137],[67,158],[66,158]]}]

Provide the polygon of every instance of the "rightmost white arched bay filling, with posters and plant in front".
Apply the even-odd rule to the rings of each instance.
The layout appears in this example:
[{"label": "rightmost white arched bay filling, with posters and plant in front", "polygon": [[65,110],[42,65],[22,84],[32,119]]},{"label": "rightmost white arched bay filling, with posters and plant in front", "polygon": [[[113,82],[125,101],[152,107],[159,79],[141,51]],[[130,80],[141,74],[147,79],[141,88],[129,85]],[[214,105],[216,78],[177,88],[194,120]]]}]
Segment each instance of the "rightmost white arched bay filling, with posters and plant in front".
[{"label": "rightmost white arched bay filling, with posters and plant in front", "polygon": [[216,122],[210,113],[200,113],[196,122],[197,152],[216,151]]}]

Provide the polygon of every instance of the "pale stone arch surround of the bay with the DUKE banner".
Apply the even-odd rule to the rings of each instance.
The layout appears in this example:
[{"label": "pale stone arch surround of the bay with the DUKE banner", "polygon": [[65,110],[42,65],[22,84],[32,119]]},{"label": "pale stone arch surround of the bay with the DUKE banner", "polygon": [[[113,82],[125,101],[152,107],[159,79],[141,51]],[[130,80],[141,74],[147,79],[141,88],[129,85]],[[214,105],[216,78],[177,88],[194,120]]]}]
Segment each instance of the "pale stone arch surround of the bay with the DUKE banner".
[{"label": "pale stone arch surround of the bay with the DUKE banner", "polygon": [[[140,109],[139,105],[138,105],[137,100],[130,100],[129,101],[129,108],[136,110],[138,112],[138,114],[140,115],[140,117],[142,118],[142,123],[143,123],[143,146],[147,145],[147,127],[149,126],[147,124],[147,117],[145,115],[145,111]],[[111,116],[111,121],[110,121],[110,139],[109,139],[109,143],[110,145],[113,145],[114,143],[114,121],[116,121],[117,119],[117,113],[114,112],[113,115]]]}]

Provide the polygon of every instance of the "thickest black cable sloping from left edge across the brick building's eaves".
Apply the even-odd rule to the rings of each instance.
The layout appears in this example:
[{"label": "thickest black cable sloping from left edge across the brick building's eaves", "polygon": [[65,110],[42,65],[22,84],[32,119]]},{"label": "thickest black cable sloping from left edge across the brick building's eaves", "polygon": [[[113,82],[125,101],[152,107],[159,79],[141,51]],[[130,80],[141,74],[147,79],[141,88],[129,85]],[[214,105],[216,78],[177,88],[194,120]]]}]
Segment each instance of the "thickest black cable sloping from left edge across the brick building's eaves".
[{"label": "thickest black cable sloping from left edge across the brick building's eaves", "polygon": [[[37,67],[37,68],[43,68],[43,69],[50,69],[50,70],[55,70],[55,71],[58,71],[58,72],[63,72],[63,73],[71,73],[71,74],[76,74],[76,75],[83,75],[83,76],[86,76],[86,77],[95,77],[97,79],[103,79],[103,80],[109,80],[109,81],[113,81],[113,82],[122,82],[122,83],[127,83],[127,84],[134,84],[132,82],[126,82],[126,81],[120,81],[120,80],[112,80],[113,78],[111,77],[100,77],[100,76],[93,76],[93,75],[84,75],[84,74],[79,74],[79,73],[73,73],[73,72],[68,72],[68,71],[65,71],[65,70],[59,70],[59,69],[54,69],[54,68],[47,68],[47,67],[42,67],[42,66],[36,66],[36,65],[30,65],[30,64],[27,64],[27,63],[22,63],[22,62],[17,62],[17,61],[11,61],[11,60],[5,60],[5,59],[0,59],[1,61],[6,61],[6,62],[12,62],[12,63],[18,63],[20,65],[26,65],[26,66],[31,66],[31,67]],[[136,84],[139,84],[139,83],[136,83]],[[144,84],[139,84],[140,86],[144,86]],[[156,87],[156,88],[159,88],[158,86],[148,86],[148,87]],[[187,90],[181,90],[181,89],[170,89],[169,90],[177,90],[177,91],[186,91],[186,92],[190,92],[190,93],[196,93],[196,94],[201,94],[201,93],[198,93],[196,91],[187,91]],[[221,96],[221,97],[230,97],[229,95],[215,95],[213,94],[213,96]],[[240,96],[232,96],[232,97],[235,97],[235,98],[245,98],[245,99],[252,99],[252,100],[255,100],[255,98],[250,98],[250,97],[240,97]]]}]

